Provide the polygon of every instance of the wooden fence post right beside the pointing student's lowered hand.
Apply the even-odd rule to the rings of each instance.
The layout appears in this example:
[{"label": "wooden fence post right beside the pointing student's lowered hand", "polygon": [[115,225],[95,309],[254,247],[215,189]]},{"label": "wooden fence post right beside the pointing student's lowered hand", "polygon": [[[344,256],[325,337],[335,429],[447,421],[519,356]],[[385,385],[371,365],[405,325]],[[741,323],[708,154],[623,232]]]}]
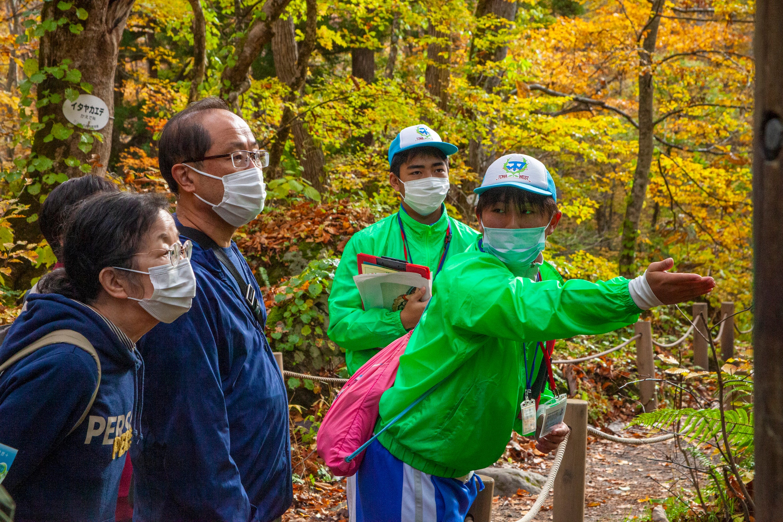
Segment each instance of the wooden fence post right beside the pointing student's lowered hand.
[{"label": "wooden fence post right beside the pointing student's lowered hand", "polygon": [[[648,323],[649,324],[649,323]],[[585,520],[587,401],[568,399],[563,422],[571,428],[557,477],[554,477],[553,522]]]}]

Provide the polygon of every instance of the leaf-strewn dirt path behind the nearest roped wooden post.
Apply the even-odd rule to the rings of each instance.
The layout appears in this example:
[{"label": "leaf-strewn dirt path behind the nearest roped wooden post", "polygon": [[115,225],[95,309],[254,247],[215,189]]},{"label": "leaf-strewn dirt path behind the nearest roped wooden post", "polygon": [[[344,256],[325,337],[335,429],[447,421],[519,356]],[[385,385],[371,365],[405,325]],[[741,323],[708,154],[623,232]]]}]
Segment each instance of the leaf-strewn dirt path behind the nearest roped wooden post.
[{"label": "leaf-strewn dirt path behind the nearest roped wooden post", "polygon": [[[672,441],[666,441],[657,445],[630,446],[590,437],[587,445],[586,522],[621,522],[641,518],[644,513],[649,515],[648,499],[669,496],[666,489],[655,481],[665,484],[672,478],[668,466],[650,459],[660,458],[661,451],[665,452],[672,444]],[[546,476],[553,460],[554,454],[547,455],[535,459],[538,462],[523,463],[519,467]],[[546,510],[539,511],[533,520],[551,520],[551,495],[550,502],[544,506]],[[536,495],[496,497],[493,521],[518,520],[525,516],[535,501]]]}]

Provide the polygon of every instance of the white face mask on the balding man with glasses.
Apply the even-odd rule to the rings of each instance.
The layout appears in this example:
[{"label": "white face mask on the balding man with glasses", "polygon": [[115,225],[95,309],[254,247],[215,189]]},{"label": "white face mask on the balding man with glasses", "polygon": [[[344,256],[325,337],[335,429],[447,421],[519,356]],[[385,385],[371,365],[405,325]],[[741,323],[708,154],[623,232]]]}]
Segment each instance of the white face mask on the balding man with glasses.
[{"label": "white face mask on the balding man with glasses", "polygon": [[[190,167],[190,165],[187,165],[187,167]],[[215,214],[218,214],[229,225],[236,227],[247,225],[264,210],[266,184],[264,183],[261,168],[251,167],[244,171],[227,174],[222,178],[207,174],[195,167],[190,168],[200,175],[207,176],[207,178],[222,180],[223,200],[217,205],[204,200],[198,194],[195,194],[195,196],[207,203],[207,205],[212,205],[212,210],[215,211]]]}]

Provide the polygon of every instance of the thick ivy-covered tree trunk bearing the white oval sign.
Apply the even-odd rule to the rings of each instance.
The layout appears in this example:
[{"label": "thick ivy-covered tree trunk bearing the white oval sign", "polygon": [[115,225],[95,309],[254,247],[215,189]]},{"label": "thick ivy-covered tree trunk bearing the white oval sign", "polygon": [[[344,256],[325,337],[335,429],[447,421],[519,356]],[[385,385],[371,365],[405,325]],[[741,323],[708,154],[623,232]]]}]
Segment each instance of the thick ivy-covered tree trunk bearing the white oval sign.
[{"label": "thick ivy-covered tree trunk bearing the white oval sign", "polygon": [[[69,167],[64,163],[67,157],[75,157],[82,163],[93,164],[94,174],[104,174],[106,164],[109,162],[111,151],[111,135],[114,127],[114,69],[117,67],[118,46],[125,28],[125,20],[128,18],[133,5],[133,0],[98,0],[87,2],[77,0],[74,7],[68,11],[57,8],[56,2],[44,2],[41,11],[41,20],[48,18],[59,19],[65,16],[70,23],[81,23],[84,30],[79,34],[70,31],[70,24],[65,23],[57,27],[55,31],[47,31],[41,37],[38,49],[39,68],[56,67],[63,63],[64,59],[70,59],[70,68],[81,71],[81,81],[92,85],[92,94],[98,96],[109,108],[109,123],[98,132],[103,136],[103,142],[98,139],[92,143],[92,149],[88,153],[78,149],[81,132],[74,132],[70,138],[60,140],[52,139],[45,142],[44,139],[52,131],[52,124],[60,123],[67,126],[69,123],[63,116],[63,102],[48,103],[38,108],[38,121],[46,121],[45,126],[34,135],[31,152],[38,157],[47,157],[54,163],[49,169],[51,172],[64,172],[69,177],[83,175],[78,167]],[[79,20],[76,9],[86,9],[87,20]],[[65,99],[65,88],[70,84],[64,79],[57,79],[47,75],[37,88],[38,99],[45,98],[45,92],[60,94]],[[88,134],[85,132],[85,134]],[[41,173],[42,175],[43,173]],[[32,195],[27,190],[20,194],[20,203],[30,207],[24,212],[27,216],[38,214],[41,209],[41,199],[38,195]],[[35,220],[14,221],[16,239],[23,239],[31,243],[38,243],[43,239],[41,230]],[[36,274],[31,265],[15,264],[14,272],[9,280],[15,289],[27,288],[30,279]]]}]

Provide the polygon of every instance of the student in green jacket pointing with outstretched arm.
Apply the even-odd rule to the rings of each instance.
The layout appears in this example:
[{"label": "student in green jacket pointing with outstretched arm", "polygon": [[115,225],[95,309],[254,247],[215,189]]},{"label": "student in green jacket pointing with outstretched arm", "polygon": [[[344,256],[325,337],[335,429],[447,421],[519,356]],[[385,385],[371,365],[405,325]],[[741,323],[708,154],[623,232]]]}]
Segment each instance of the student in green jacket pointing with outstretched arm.
[{"label": "student in green jacket pointing with outstretched arm", "polygon": [[[435,279],[394,386],[381,398],[376,433],[388,429],[348,482],[355,522],[464,520],[483,488],[473,470],[500,458],[511,430],[535,436],[522,428],[526,392],[542,401],[553,395],[540,342],[610,332],[644,309],[715,286],[709,277],[666,272],[670,258],[633,280],[564,283],[541,255],[561,213],[549,172],[532,157],[496,160],[475,192],[483,236]],[[550,452],[566,434],[561,423],[537,448]]]}]

